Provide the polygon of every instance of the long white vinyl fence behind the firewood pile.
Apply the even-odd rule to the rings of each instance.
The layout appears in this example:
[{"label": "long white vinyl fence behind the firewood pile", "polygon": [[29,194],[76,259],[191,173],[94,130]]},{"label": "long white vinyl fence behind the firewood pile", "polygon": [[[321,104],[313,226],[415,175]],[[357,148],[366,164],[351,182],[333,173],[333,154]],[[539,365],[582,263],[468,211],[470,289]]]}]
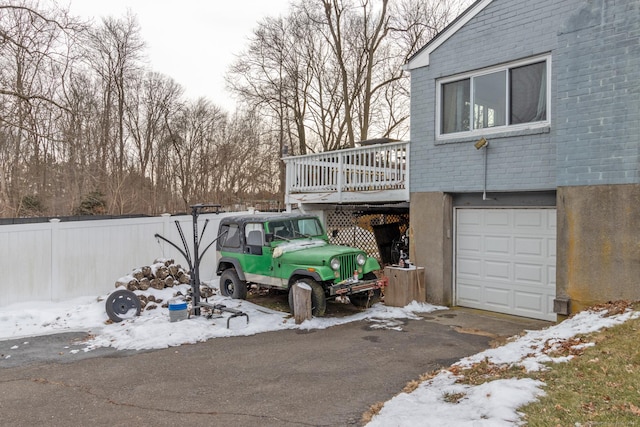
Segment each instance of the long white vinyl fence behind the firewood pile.
[{"label": "long white vinyl fence behind the firewood pile", "polygon": [[[220,219],[235,213],[201,214],[198,231],[204,249],[218,233]],[[202,232],[205,221],[209,224]],[[0,226],[0,307],[27,301],[62,301],[100,296],[115,289],[116,280],[157,258],[187,261],[160,234],[182,247],[179,221],[193,257],[191,215]],[[200,265],[200,278],[215,275],[215,244]]]}]

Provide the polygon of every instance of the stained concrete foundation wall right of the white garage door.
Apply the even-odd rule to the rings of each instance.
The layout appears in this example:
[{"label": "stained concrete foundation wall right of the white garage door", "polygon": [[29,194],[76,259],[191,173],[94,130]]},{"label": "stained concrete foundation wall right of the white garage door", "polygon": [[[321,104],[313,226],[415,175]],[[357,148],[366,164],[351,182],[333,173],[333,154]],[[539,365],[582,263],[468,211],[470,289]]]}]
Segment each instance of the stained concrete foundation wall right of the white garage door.
[{"label": "stained concrete foundation wall right of the white garage door", "polygon": [[571,311],[640,299],[640,185],[558,188],[557,296]]}]

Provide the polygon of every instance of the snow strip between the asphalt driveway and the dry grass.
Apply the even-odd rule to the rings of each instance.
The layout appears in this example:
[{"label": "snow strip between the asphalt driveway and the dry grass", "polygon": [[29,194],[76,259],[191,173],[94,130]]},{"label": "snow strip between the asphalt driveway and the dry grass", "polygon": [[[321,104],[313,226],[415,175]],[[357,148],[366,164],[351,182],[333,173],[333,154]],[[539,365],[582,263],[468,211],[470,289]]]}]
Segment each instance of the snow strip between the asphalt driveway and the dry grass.
[{"label": "snow strip between the asphalt driveway and the dry grass", "polygon": [[[522,366],[527,371],[541,370],[545,362],[569,359],[546,354],[559,348],[563,341],[640,317],[640,312],[636,311],[614,316],[606,314],[606,310],[584,311],[549,328],[528,331],[501,347],[466,357],[453,367],[466,368],[487,361],[496,365]],[[544,394],[544,383],[530,378],[496,380],[479,386],[460,384],[456,382],[458,379],[460,377],[452,370],[441,370],[413,392],[400,393],[386,402],[367,426],[513,426],[520,421],[517,409]],[[453,396],[460,400],[456,398],[452,402]]]}]

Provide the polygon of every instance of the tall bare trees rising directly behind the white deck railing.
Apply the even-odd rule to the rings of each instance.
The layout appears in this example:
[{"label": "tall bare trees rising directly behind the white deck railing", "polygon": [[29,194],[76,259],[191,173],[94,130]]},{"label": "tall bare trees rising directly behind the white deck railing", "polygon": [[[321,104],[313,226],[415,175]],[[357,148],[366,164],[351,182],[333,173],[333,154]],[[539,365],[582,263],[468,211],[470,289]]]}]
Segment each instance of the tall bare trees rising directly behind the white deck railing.
[{"label": "tall bare trees rising directly behind the white deck railing", "polygon": [[[293,154],[408,131],[410,55],[454,17],[446,0],[300,0],[262,21],[231,69],[232,90],[277,112]],[[285,138],[281,138],[281,143]]]}]

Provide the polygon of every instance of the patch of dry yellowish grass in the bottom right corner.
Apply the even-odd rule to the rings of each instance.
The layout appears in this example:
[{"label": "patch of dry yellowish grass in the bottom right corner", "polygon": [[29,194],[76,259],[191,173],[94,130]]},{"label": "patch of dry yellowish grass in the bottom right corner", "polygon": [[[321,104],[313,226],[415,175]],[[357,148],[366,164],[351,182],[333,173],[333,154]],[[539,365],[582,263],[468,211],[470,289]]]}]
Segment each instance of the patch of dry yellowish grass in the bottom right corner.
[{"label": "patch of dry yellowish grass in the bottom right corner", "polygon": [[640,319],[586,340],[596,345],[537,374],[546,395],[520,408],[527,425],[640,426]]}]

